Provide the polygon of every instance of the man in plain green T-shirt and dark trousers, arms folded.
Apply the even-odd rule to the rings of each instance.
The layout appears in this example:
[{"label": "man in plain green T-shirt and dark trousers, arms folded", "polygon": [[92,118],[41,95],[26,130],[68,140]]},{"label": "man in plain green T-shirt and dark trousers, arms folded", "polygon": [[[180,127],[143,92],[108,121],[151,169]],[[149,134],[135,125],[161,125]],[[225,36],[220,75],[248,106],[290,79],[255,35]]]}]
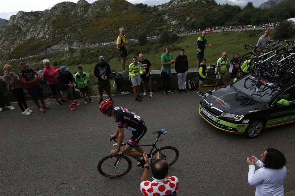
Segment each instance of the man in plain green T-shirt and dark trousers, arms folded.
[{"label": "man in plain green T-shirt and dark trousers, arms folded", "polygon": [[161,56],[161,77],[163,78],[163,91],[167,95],[169,93],[174,93],[171,90],[170,79],[171,79],[171,64],[174,63],[174,59],[170,52],[170,47],[167,46],[165,49],[165,53]]}]

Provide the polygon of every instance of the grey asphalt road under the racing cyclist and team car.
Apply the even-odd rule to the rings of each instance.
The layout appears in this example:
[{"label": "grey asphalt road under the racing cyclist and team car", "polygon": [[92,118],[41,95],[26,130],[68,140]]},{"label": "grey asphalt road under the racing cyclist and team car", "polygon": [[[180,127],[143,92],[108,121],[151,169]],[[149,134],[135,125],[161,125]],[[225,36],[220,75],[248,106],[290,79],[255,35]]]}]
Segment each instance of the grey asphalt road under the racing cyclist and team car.
[{"label": "grey asphalt road under the racing cyclist and team car", "polygon": [[[119,179],[97,172],[99,160],[113,149],[108,138],[116,123],[99,112],[97,97],[94,101],[82,103],[76,111],[47,101],[51,109],[44,114],[32,102],[30,116],[22,115],[15,103],[14,111],[1,112],[0,195],[141,195],[142,169],[135,161],[131,172]],[[260,157],[268,147],[285,154],[285,192],[295,190],[294,124],[265,130],[249,140],[205,122],[198,114],[196,91],[158,92],[141,103],[132,94],[114,97],[114,101],[146,122],[148,133],[142,143],[154,141],[153,131],[168,130],[159,144],[179,149],[180,158],[169,170],[179,179],[178,195],[254,195],[255,187],[248,184],[246,157]],[[125,133],[126,138],[131,134],[129,130]]]}]

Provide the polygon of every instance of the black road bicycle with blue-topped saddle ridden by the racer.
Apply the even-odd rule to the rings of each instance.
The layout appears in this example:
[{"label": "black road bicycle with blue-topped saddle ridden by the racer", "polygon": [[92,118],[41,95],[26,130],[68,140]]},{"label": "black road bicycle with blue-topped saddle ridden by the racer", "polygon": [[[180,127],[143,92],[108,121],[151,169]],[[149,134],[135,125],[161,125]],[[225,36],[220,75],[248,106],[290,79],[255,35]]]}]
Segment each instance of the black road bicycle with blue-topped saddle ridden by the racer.
[{"label": "black road bicycle with blue-topped saddle ridden by the racer", "polygon": [[[157,156],[156,154],[157,152],[159,152],[160,158],[167,160],[169,166],[173,165],[179,157],[178,149],[173,146],[165,146],[165,147],[157,146],[157,143],[163,140],[163,139],[159,139],[160,135],[161,134],[166,135],[167,130],[161,129],[160,131],[156,131],[153,133],[158,134],[158,137],[154,144],[137,145],[135,147],[152,146],[153,148],[150,150],[149,154],[151,154],[153,150],[155,149],[155,151],[152,153],[153,159],[150,160],[150,164],[153,164],[153,160],[155,160],[155,157]],[[121,147],[124,147],[126,144],[127,143],[122,143]],[[115,143],[114,146],[117,146],[117,143]],[[102,158],[97,165],[97,170],[104,177],[108,177],[108,178],[122,177],[126,175],[128,172],[130,172],[132,168],[132,161],[130,160],[129,157],[137,160],[138,162],[142,161],[142,158],[140,157],[127,156],[127,155],[124,155],[122,151],[120,151],[115,157],[105,156],[104,158]],[[138,166],[143,167],[142,165],[138,165]]]}]

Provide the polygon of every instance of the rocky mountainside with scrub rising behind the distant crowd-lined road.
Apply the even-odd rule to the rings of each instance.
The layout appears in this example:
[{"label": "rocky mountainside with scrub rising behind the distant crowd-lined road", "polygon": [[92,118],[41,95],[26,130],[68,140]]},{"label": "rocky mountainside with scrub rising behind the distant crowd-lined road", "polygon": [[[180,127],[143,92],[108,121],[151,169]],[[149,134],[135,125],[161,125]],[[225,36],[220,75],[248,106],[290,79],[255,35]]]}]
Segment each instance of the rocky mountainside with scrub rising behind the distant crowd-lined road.
[{"label": "rocky mountainside with scrub rising behind the distant crowd-lined road", "polygon": [[127,38],[137,38],[142,33],[153,36],[183,28],[261,24],[294,15],[290,6],[268,10],[266,16],[253,6],[219,5],[215,0],[171,0],[158,6],[125,0],[62,2],[45,11],[19,11],[0,26],[0,59],[115,41],[120,27]]}]

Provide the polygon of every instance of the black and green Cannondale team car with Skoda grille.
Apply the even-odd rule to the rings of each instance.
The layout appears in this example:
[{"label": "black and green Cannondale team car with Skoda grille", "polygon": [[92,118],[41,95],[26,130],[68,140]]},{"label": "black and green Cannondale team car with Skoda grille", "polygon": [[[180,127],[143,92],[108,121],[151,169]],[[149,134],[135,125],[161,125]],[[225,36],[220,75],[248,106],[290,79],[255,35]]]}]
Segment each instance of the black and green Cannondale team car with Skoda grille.
[{"label": "black and green Cannondale team car with Skoda grille", "polygon": [[295,122],[295,83],[282,88],[248,75],[206,93],[199,114],[215,128],[255,138],[264,128]]}]

